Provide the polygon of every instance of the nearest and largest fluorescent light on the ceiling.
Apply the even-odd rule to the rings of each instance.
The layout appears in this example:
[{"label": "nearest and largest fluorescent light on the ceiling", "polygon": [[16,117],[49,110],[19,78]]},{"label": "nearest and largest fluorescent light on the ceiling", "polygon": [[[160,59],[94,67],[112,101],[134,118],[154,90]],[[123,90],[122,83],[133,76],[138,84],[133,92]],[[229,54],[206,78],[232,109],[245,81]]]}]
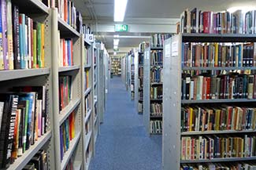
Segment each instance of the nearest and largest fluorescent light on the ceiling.
[{"label": "nearest and largest fluorescent light on the ceiling", "polygon": [[115,0],[114,16],[115,22],[123,22],[128,0]]}]

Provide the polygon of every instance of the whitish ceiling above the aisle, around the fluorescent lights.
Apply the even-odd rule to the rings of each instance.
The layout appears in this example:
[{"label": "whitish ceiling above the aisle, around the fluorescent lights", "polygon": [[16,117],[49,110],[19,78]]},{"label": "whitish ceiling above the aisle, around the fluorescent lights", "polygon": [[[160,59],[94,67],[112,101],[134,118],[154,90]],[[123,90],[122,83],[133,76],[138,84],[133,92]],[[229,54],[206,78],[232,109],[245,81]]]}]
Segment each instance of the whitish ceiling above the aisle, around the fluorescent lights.
[{"label": "whitish ceiling above the aisle, around the fluorescent lights", "polygon": [[[81,11],[84,22],[95,24],[113,23],[113,2],[114,0],[74,0],[76,8]],[[184,9],[192,9],[195,6],[202,10],[223,11],[233,6],[255,6],[255,0],[128,0],[124,23],[132,24],[138,19],[177,19]],[[154,21],[153,21],[154,24]],[[98,32],[100,41],[104,42],[106,49],[113,49],[113,34]],[[130,33],[135,38],[120,38],[120,47],[135,47],[139,42],[148,38],[138,38],[137,34]],[[140,35],[140,34],[139,34]],[[145,35],[145,34],[143,34]],[[148,34],[147,34],[148,35]]]}]

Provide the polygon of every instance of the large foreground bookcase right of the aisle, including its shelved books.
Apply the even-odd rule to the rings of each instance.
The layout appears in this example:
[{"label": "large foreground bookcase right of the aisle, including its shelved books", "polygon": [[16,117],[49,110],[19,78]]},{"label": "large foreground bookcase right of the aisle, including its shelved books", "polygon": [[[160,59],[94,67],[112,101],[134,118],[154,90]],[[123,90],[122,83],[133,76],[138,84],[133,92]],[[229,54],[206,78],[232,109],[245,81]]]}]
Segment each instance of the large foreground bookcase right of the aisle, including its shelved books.
[{"label": "large foreground bookcase right of the aisle, including its shelved books", "polygon": [[[210,78],[213,78],[214,75],[221,75],[221,74],[230,74],[232,75],[234,72],[237,73],[244,73],[244,74],[255,74],[255,67],[254,65],[244,66],[241,64],[241,67],[233,67],[236,65],[236,62],[239,62],[240,60],[232,59],[232,61],[236,61],[234,63],[220,63],[221,65],[214,65],[213,63],[216,63],[215,61],[220,61],[220,60],[225,60],[226,55],[223,55],[222,53],[218,53],[218,55],[221,56],[221,58],[217,58],[217,56],[213,56],[214,59],[216,59],[214,62],[211,60],[203,60],[202,64],[205,64],[204,62],[208,62],[207,65],[201,65],[199,66],[193,66],[189,67],[187,66],[188,60],[184,60],[185,56],[185,45],[188,43],[191,43],[191,45],[211,45],[211,43],[217,44],[220,43],[221,45],[241,45],[250,43],[250,42],[256,42],[256,36],[255,34],[178,34],[174,36],[173,38],[169,38],[168,40],[165,41],[164,45],[164,101],[163,101],[163,140],[162,140],[162,163],[163,163],[163,169],[180,169],[181,166],[200,166],[200,165],[214,165],[214,164],[229,164],[229,165],[237,165],[239,162],[242,163],[251,163],[256,161],[256,158],[254,155],[246,155],[247,153],[247,146],[244,146],[245,143],[247,143],[244,138],[245,136],[254,136],[255,134],[255,129],[251,128],[250,125],[242,126],[242,128],[239,127],[239,124],[233,124],[233,120],[236,119],[238,121],[241,121],[240,118],[236,116],[236,112],[230,112],[232,114],[232,118],[230,119],[227,117],[226,120],[230,121],[217,121],[217,120],[224,120],[224,119],[218,119],[219,118],[219,112],[217,111],[216,108],[221,108],[221,113],[227,113],[225,112],[226,110],[233,108],[233,107],[241,107],[241,108],[246,108],[246,107],[252,107],[254,108],[254,103],[255,103],[255,98],[251,97],[248,99],[246,97],[247,94],[247,89],[243,89],[240,92],[243,92],[244,96],[239,97],[238,99],[233,96],[236,91],[236,86],[234,84],[235,89],[234,91],[225,91],[222,92],[222,90],[226,88],[222,88],[221,91],[215,90],[214,85],[210,85],[210,92],[209,91],[203,91],[202,94],[200,94],[201,89],[199,88],[198,85],[201,85],[199,83],[198,85],[195,84],[196,88],[198,89],[199,93],[198,96],[194,98],[194,94],[192,95],[191,92],[194,92],[194,88],[191,89],[186,89],[186,84],[191,85],[191,82],[194,81],[194,78],[198,78],[197,75],[206,75],[209,76]],[[207,43],[207,44],[206,44]],[[226,47],[224,47],[226,48]],[[216,48],[217,49],[217,48]],[[211,49],[209,49],[211,50]],[[255,50],[255,47],[254,47]],[[255,52],[255,51],[254,51]],[[236,52],[235,52],[236,53]],[[232,53],[232,54],[235,54]],[[237,53],[238,54],[238,53]],[[243,53],[244,56],[239,52],[239,55],[243,56],[243,60],[248,60],[248,58],[245,56],[245,53]],[[223,55],[223,56],[222,56]],[[246,54],[247,55],[247,54]],[[209,55],[211,57],[211,55]],[[252,58],[250,58],[252,57]],[[254,55],[250,56],[249,59],[253,60],[253,63],[255,62],[255,53]],[[198,62],[196,60],[191,59],[191,61]],[[228,61],[228,60],[227,60]],[[217,62],[218,63],[218,62]],[[194,64],[194,63],[193,63]],[[223,66],[224,64],[224,66]],[[255,63],[254,63],[255,64]],[[192,76],[191,78],[187,77],[185,74],[195,74],[195,76]],[[184,75],[185,74],[185,75]],[[232,78],[232,77],[230,77]],[[236,77],[235,77],[236,78]],[[211,79],[213,81],[213,79]],[[224,81],[223,81],[224,82]],[[249,81],[248,81],[249,82]],[[250,81],[254,82],[255,81]],[[208,82],[204,82],[202,85],[206,85]],[[214,83],[214,82],[213,82]],[[237,84],[236,84],[237,85]],[[241,84],[239,84],[241,85]],[[183,87],[184,86],[184,87]],[[195,87],[194,86],[194,87]],[[244,85],[243,87],[246,87],[247,85]],[[230,86],[228,86],[228,89]],[[208,87],[206,87],[208,89]],[[188,90],[188,91],[187,91]],[[253,89],[254,90],[254,89]],[[217,93],[215,93],[215,91]],[[212,92],[212,93],[211,93]],[[250,95],[250,91],[248,91]],[[254,91],[253,91],[254,92]],[[210,93],[210,95],[208,95]],[[184,96],[184,94],[186,94]],[[188,94],[188,95],[187,95]],[[222,97],[224,94],[229,94],[225,95],[226,97]],[[242,93],[241,93],[242,94]],[[232,95],[232,96],[230,96]],[[253,94],[251,94],[253,95]],[[193,97],[192,97],[193,96]],[[214,97],[214,98],[213,98]],[[194,98],[194,99],[193,99]],[[224,98],[224,99],[222,99]],[[233,107],[228,107],[228,106],[233,106]],[[203,125],[198,125],[198,122],[195,123],[193,121],[193,114],[197,113],[196,111],[190,112],[192,115],[191,118],[189,118],[189,122],[191,123],[185,123],[184,121],[188,121],[188,118],[184,117],[184,113],[186,112],[186,108],[203,108],[203,110],[208,109],[206,113],[211,113],[210,108],[213,108],[213,114],[216,117],[211,117],[213,119],[207,120],[202,119]],[[195,109],[196,110],[196,109]],[[184,112],[185,111],[185,112]],[[244,110],[243,110],[244,111]],[[198,112],[199,113],[199,112]],[[244,115],[244,112],[240,112],[240,114]],[[201,112],[200,112],[201,115]],[[225,114],[222,114],[225,115]],[[200,117],[200,116],[199,116]],[[195,118],[199,118],[195,117]],[[245,118],[245,120],[248,120],[249,118]],[[197,119],[198,120],[198,119]],[[203,121],[205,120],[205,121]],[[251,121],[251,119],[249,119]],[[206,123],[205,123],[206,122]],[[221,122],[221,124],[219,123]],[[246,121],[248,122],[248,121]],[[254,124],[254,122],[252,122]],[[188,126],[187,126],[188,125]],[[235,126],[238,125],[238,126]],[[222,127],[222,128],[220,128]],[[229,127],[229,128],[228,128]],[[203,128],[203,129],[202,129]],[[235,128],[235,129],[232,129]],[[236,137],[237,141],[235,142],[234,139],[234,145],[229,145],[226,143],[230,148],[234,148],[234,146],[238,146],[239,149],[234,149],[231,152],[226,152],[228,147],[224,147],[225,145],[222,146],[219,145],[219,141],[217,139],[221,139],[221,141],[226,141],[225,138],[229,138],[233,140],[232,137]],[[241,139],[242,138],[242,139]],[[191,158],[189,156],[189,153],[185,154],[182,150],[185,148],[189,151],[192,150],[194,146],[198,146],[197,142],[195,142],[195,145],[191,145],[189,142],[187,142],[187,146],[191,145],[190,147],[183,147],[185,141],[189,141],[189,139],[210,139],[210,145],[212,145],[212,141],[216,144],[216,146],[213,146],[213,150],[211,153],[213,154],[206,154],[208,151],[206,150],[198,150],[199,154],[201,156],[199,157],[193,157]],[[212,140],[213,139],[213,140]],[[244,140],[243,140],[244,139]],[[241,143],[238,142],[238,140],[242,141]],[[199,140],[200,141],[200,140]],[[202,141],[202,140],[201,140]],[[224,143],[224,142],[223,142]],[[243,144],[242,144],[243,143]],[[210,146],[211,148],[211,146]],[[218,148],[218,149],[217,149]],[[222,152],[222,151],[223,152]],[[239,151],[240,150],[240,151]],[[242,151],[241,151],[242,150]],[[190,152],[190,151],[189,151]],[[191,151],[191,153],[194,153]],[[254,152],[253,152],[254,153]],[[202,156],[205,155],[205,156]],[[224,156],[225,155],[225,156]],[[238,155],[238,156],[237,156]],[[243,164],[242,164],[243,165]]]}]

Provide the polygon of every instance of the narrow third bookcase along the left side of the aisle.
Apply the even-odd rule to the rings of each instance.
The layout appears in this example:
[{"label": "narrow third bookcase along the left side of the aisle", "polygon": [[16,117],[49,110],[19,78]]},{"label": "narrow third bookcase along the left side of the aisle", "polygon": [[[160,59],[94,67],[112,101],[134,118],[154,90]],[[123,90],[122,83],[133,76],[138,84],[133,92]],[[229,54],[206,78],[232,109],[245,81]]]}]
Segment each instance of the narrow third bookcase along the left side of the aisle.
[{"label": "narrow third bookcase along the left side of the aisle", "polygon": [[87,36],[81,38],[81,69],[82,69],[82,127],[83,127],[83,169],[89,169],[93,156],[93,65],[92,65],[92,45]]}]

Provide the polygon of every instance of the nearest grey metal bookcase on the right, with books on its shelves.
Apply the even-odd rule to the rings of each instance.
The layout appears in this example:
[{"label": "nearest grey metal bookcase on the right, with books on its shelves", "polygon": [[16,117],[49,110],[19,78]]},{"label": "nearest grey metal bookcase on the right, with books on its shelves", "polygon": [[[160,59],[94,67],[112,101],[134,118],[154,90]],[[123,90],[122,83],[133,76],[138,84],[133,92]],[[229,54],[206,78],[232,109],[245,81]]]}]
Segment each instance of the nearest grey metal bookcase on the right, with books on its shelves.
[{"label": "nearest grey metal bookcase on the right, with books on its shelves", "polygon": [[[250,111],[248,110],[254,110],[254,103],[256,101],[254,96],[250,96],[251,87],[247,86],[249,83],[254,84],[255,81],[246,81],[247,78],[250,78],[251,74],[255,74],[255,53],[252,54],[252,56],[248,56],[248,53],[242,54],[239,46],[247,48],[245,46],[247,46],[248,43],[254,44],[255,41],[255,34],[187,33],[180,33],[165,40],[162,140],[162,163],[164,170],[180,169],[180,167],[186,165],[198,167],[198,165],[208,166],[210,163],[210,165],[224,164],[229,166],[236,165],[236,163],[239,162],[243,165],[243,163],[255,161],[254,152],[247,154],[248,147],[250,147],[247,145],[247,142],[249,140],[254,141],[254,119],[243,117],[244,123],[239,123],[242,121],[242,118],[239,116],[250,115]],[[218,53],[215,51],[214,54],[217,56],[209,55],[213,52],[212,49],[210,49],[210,46],[213,44],[222,45],[222,48],[224,49],[237,48],[238,53],[234,51],[228,55],[228,52]],[[194,45],[202,45],[202,47],[206,46],[205,48],[209,48],[209,53],[205,53],[203,56],[206,56],[206,58],[210,57],[210,60],[205,60],[203,58],[201,60],[202,63],[199,62],[201,65],[197,64],[197,59],[194,58],[194,54],[190,52],[187,54],[191,54],[192,57],[191,59],[187,59],[185,55],[187,52],[186,45],[191,45],[192,48]],[[191,52],[192,50],[194,49],[191,49]],[[254,45],[252,50],[255,50]],[[198,54],[201,55],[202,51],[198,52]],[[237,56],[242,56],[242,58],[235,57],[236,54]],[[190,61],[188,62],[188,60]],[[224,62],[217,65],[220,60]],[[248,63],[243,63],[243,60],[247,60]],[[237,66],[239,61],[242,63]],[[250,61],[252,61],[252,63],[250,63]],[[194,67],[193,64],[195,63],[197,64],[197,67]],[[189,64],[192,65],[188,66]],[[190,76],[191,74],[193,75]],[[214,81],[216,76],[217,81]],[[221,76],[230,79],[227,81]],[[246,82],[242,84],[234,84],[233,82],[235,80],[238,81],[237,79],[240,76],[244,78],[241,79],[240,82],[242,82],[242,80]],[[206,84],[208,85],[208,81],[203,81],[203,83],[197,81],[198,78],[202,77],[210,78],[210,81],[213,83],[216,82],[214,85],[210,84],[210,91],[207,91],[209,88],[205,86]],[[193,88],[191,86],[186,86],[193,84],[195,80],[196,83]],[[221,82],[218,82],[219,80],[221,80]],[[223,83],[227,86],[223,86],[221,89],[214,88],[215,85],[217,85],[217,87],[224,85]],[[202,86],[200,87],[200,85]],[[242,87],[238,85],[243,85],[244,88],[247,87],[248,89],[241,89],[241,91],[238,91],[238,87]],[[191,89],[189,89],[190,87]],[[205,90],[203,90],[204,88]],[[197,92],[195,92],[195,89]],[[252,92],[254,92],[254,89],[252,90]],[[194,92],[195,96],[192,94]],[[201,110],[201,108],[202,111],[198,111]],[[236,110],[239,110],[237,112],[239,114],[236,114]],[[189,115],[189,118],[186,117],[186,115]],[[194,115],[196,122],[193,119]],[[210,115],[210,119],[207,118],[206,120],[206,115]],[[252,125],[247,124],[249,121]],[[191,145],[189,142],[190,139],[195,142],[195,145]],[[229,143],[228,140],[234,142]],[[187,148],[184,146],[186,141],[188,141],[187,146],[191,146],[191,149],[190,147]],[[220,144],[220,141],[221,143],[226,144],[222,145]],[[196,149],[197,155],[195,155],[195,157],[189,155],[189,153],[184,153],[184,149],[193,150],[192,148],[194,148],[194,146],[197,148],[200,143],[204,142],[209,142],[209,146],[210,148],[213,148],[213,150],[210,149],[210,151],[207,151]],[[215,145],[213,145],[213,143]],[[234,145],[231,143],[234,143]],[[232,151],[229,152],[227,149],[228,147],[232,148]],[[190,152],[192,154],[195,153],[194,151]],[[209,154],[208,156],[207,153],[212,154]]]}]

